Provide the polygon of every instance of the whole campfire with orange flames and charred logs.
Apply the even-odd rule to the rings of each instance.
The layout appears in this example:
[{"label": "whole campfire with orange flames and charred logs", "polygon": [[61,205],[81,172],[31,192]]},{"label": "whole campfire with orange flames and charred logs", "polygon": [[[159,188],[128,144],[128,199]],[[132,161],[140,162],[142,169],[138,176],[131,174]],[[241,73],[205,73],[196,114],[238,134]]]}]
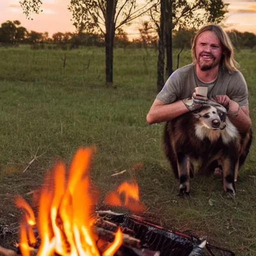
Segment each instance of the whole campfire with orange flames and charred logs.
[{"label": "whole campfire with orange flames and charred logs", "polygon": [[46,172],[38,190],[37,214],[21,196],[16,196],[16,206],[24,212],[19,241],[16,251],[0,247],[0,254],[192,256],[205,255],[201,254],[204,250],[214,255],[211,249],[217,247],[205,240],[164,229],[134,215],[146,209],[139,201],[135,180],[122,182],[104,198],[106,205],[129,209],[132,214],[96,211],[99,191],[89,177],[93,153],[92,147],[79,148],[67,173],[62,161]]}]

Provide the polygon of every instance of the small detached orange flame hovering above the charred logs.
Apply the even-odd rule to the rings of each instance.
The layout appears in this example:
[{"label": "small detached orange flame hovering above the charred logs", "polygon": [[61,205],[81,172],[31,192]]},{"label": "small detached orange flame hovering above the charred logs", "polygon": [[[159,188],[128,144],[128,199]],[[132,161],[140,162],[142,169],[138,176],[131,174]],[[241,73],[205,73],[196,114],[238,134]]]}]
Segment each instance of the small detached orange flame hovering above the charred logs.
[{"label": "small detached orange flame hovering above the charred logs", "polygon": [[122,182],[116,190],[107,193],[104,201],[110,205],[126,207],[131,211],[145,210],[145,205],[139,202],[139,189],[135,180]]}]

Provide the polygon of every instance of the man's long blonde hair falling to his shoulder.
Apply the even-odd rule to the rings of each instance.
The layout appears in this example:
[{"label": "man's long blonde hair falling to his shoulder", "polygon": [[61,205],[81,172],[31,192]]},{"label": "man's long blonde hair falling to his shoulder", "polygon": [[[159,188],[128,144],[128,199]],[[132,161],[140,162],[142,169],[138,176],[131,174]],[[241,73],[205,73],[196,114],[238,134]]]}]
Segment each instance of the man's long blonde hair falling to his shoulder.
[{"label": "man's long blonde hair falling to his shoulder", "polygon": [[222,68],[227,69],[230,72],[238,71],[239,64],[234,59],[234,49],[230,41],[228,34],[216,24],[207,24],[202,26],[194,35],[192,39],[191,54],[193,58],[193,63],[196,63],[196,54],[195,54],[195,44],[198,36],[204,31],[212,31],[218,37],[221,46],[222,46],[222,57],[220,60],[220,65]]}]

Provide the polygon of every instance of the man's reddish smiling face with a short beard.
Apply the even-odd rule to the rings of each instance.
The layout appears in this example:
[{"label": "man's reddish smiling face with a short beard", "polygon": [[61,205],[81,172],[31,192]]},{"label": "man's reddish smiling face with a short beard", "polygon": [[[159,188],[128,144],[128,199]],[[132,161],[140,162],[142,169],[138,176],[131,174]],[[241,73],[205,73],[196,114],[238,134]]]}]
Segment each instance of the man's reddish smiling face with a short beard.
[{"label": "man's reddish smiling face with a short beard", "polygon": [[214,32],[204,31],[197,37],[195,56],[201,70],[209,70],[218,65],[221,55],[221,44]]}]

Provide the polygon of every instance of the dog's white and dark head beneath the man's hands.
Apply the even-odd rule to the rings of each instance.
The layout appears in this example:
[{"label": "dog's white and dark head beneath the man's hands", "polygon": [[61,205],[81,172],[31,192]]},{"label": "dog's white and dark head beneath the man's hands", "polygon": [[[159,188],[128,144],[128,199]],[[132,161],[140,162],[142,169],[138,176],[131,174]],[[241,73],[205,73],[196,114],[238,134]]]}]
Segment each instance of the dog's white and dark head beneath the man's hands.
[{"label": "dog's white and dark head beneath the man's hands", "polygon": [[208,129],[224,129],[227,110],[222,105],[205,105],[193,112],[198,122]]}]

